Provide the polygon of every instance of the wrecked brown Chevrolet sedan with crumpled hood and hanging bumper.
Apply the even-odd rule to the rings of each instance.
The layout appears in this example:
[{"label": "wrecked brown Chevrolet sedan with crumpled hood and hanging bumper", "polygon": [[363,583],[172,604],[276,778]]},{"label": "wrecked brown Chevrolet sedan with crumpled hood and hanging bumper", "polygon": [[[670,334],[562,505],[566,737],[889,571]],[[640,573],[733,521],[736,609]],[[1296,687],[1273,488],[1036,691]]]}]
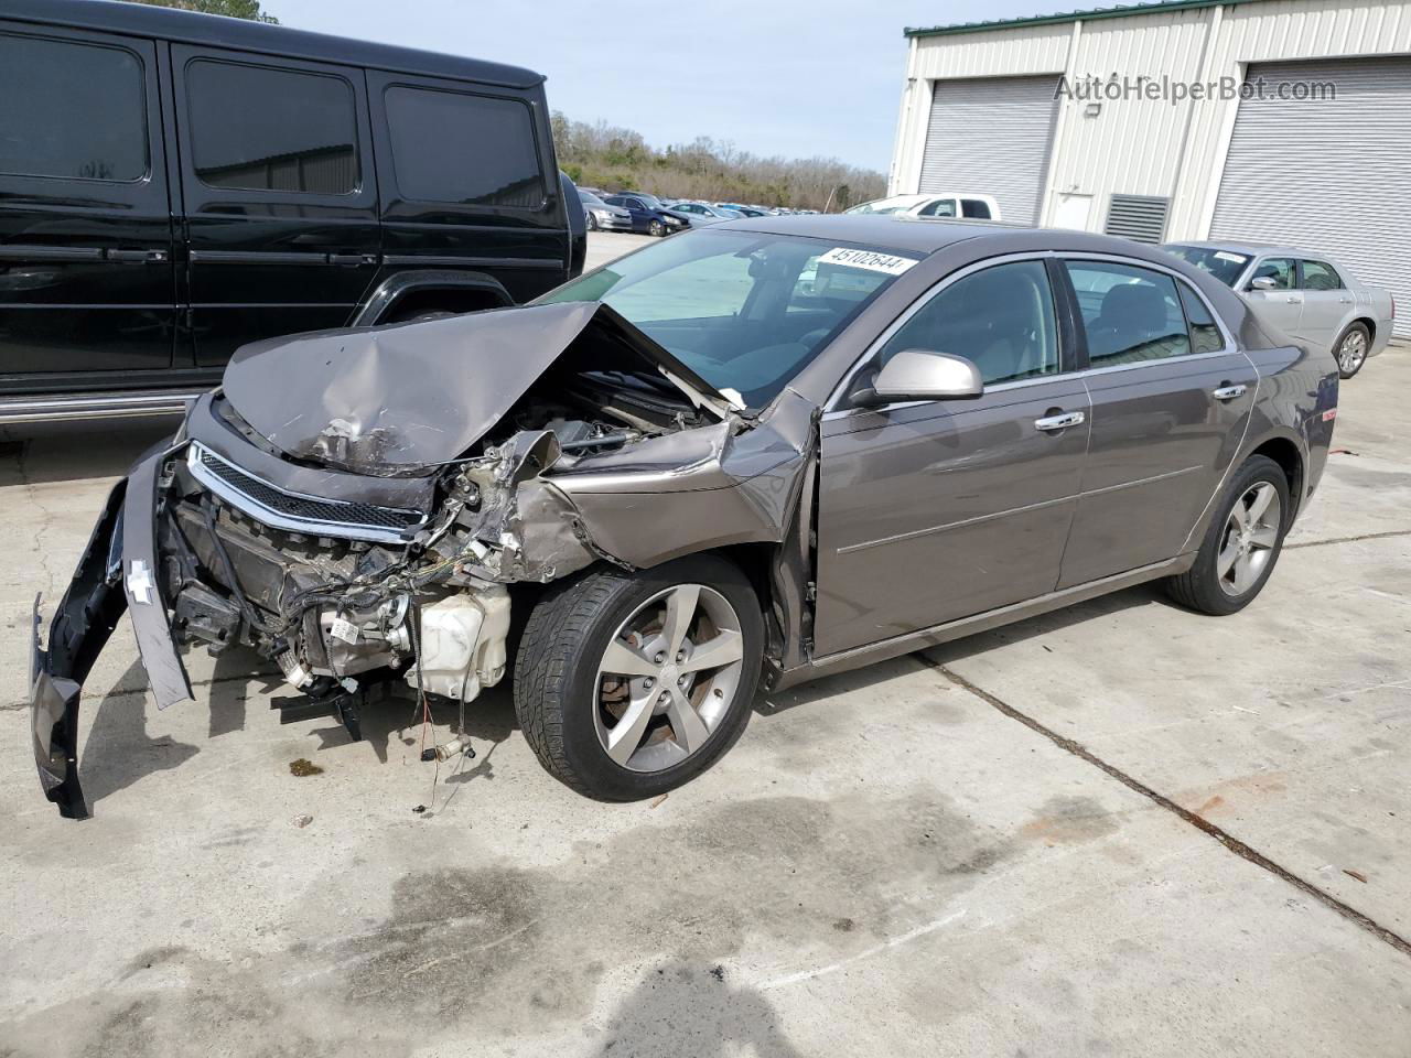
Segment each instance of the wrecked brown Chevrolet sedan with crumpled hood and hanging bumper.
[{"label": "wrecked brown Chevrolet sedan with crumpled hood and hanging bumper", "polygon": [[[119,482],[34,636],[34,750],[86,814],[123,609],[253,646],[357,735],[368,687],[514,681],[584,794],[708,767],[763,683],[1146,580],[1230,614],[1312,494],[1326,354],[1122,240],[895,217],[690,233],[533,305],[250,346]],[[514,656],[511,656],[515,645]]]}]

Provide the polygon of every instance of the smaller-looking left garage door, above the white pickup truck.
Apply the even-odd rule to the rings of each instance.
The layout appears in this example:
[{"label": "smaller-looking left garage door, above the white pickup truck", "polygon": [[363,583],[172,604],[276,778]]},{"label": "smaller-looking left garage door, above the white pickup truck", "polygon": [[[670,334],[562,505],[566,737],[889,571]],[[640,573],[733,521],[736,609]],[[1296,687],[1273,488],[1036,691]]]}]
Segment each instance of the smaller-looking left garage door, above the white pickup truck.
[{"label": "smaller-looking left garage door, above the white pickup truck", "polygon": [[1058,78],[937,80],[919,190],[993,195],[1005,220],[1034,223]]}]

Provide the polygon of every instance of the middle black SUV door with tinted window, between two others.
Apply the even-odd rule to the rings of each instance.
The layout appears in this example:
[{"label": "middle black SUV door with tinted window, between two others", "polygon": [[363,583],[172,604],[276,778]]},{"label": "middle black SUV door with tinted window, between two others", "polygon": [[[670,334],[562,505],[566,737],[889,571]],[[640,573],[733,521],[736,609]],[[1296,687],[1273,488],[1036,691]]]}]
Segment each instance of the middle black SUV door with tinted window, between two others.
[{"label": "middle black SUV door with tinted window, between two others", "polygon": [[190,354],[340,327],[377,274],[363,72],[172,45]]}]

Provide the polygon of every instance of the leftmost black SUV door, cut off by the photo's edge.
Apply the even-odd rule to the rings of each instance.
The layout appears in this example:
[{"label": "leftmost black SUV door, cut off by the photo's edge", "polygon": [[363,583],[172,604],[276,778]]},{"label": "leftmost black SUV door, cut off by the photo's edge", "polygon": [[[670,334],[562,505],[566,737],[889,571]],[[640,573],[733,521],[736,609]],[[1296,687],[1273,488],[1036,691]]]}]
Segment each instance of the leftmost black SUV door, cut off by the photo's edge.
[{"label": "leftmost black SUV door, cut off by the photo's edge", "polygon": [[6,385],[100,384],[92,372],[130,382],[130,372],[171,367],[155,45],[0,21],[0,100]]}]

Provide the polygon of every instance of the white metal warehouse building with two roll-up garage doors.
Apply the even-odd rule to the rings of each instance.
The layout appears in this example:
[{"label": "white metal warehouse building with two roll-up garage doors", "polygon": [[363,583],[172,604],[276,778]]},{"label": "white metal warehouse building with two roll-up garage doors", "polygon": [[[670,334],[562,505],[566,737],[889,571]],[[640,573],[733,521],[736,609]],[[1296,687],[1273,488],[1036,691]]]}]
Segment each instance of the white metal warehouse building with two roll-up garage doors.
[{"label": "white metal warehouse building with two roll-up garage doors", "polygon": [[1390,288],[1411,334],[1411,3],[1170,0],[906,35],[892,193],[1292,243]]}]

